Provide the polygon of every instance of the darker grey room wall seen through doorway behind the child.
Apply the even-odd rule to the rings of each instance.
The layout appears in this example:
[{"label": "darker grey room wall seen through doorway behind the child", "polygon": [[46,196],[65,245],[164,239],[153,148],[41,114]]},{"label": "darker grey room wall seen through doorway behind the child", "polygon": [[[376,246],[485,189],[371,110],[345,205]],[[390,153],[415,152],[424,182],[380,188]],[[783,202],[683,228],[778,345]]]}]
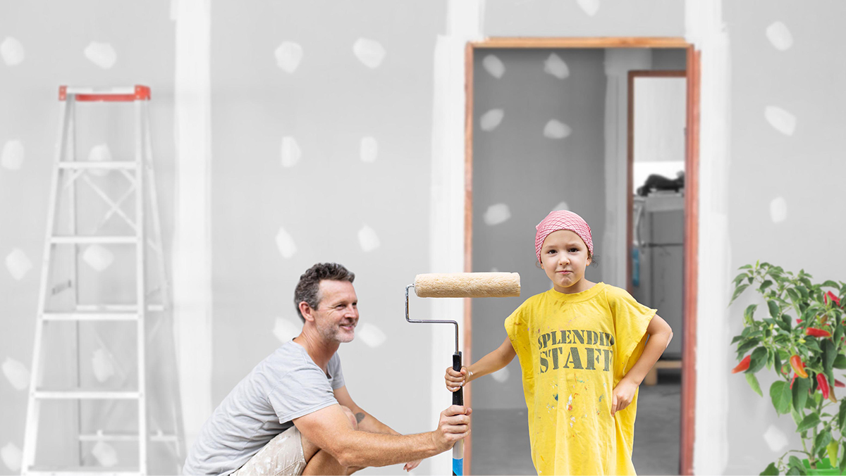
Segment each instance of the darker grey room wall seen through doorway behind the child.
[{"label": "darker grey room wall seen through doorway behind the child", "polygon": [[[629,154],[629,72],[684,74],[686,50],[479,48],[472,68],[472,271],[516,271],[522,284],[520,298],[473,300],[475,362],[503,342],[503,321],[519,304],[551,287],[536,268],[533,247],[535,226],[549,211],[569,209],[591,225],[597,260],[586,272],[588,280],[634,291],[637,187]],[[684,107],[684,91],[678,101]],[[647,116],[664,119],[663,112],[639,104]],[[673,162],[684,163],[684,135],[681,140],[681,155]],[[666,173],[641,164],[636,169],[647,177]],[[680,291],[677,298],[683,302]],[[678,318],[683,319],[681,313]],[[680,349],[680,329],[673,331]],[[640,389],[633,454],[639,473],[678,474],[680,377],[678,370],[670,372],[675,375],[662,371],[657,385]],[[492,378],[473,382],[473,473],[536,474],[521,380],[515,358]]]}]

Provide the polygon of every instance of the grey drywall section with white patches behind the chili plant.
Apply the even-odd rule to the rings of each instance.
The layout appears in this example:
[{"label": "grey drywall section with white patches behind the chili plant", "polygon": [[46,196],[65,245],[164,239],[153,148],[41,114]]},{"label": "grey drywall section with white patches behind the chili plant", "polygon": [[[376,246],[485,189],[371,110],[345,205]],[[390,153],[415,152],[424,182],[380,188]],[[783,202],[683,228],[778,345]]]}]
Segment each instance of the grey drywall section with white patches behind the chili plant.
[{"label": "grey drywall section with white patches behind the chili plant", "polygon": [[[832,60],[846,47],[844,16],[846,5],[836,1],[723,5],[731,55],[733,133],[723,186],[732,270],[766,260],[805,269],[815,282],[846,281],[846,226],[836,218],[843,215],[846,174],[846,63]],[[728,293],[729,283],[724,287]],[[700,383],[728,387],[729,474],[759,473],[788,449],[801,448],[794,422],[776,417],[766,393],[775,375],[759,374],[764,398],[739,375],[728,375],[735,364],[728,342],[750,302],[751,296],[741,298],[728,309],[725,345],[711,349],[728,356],[722,381]]]}]

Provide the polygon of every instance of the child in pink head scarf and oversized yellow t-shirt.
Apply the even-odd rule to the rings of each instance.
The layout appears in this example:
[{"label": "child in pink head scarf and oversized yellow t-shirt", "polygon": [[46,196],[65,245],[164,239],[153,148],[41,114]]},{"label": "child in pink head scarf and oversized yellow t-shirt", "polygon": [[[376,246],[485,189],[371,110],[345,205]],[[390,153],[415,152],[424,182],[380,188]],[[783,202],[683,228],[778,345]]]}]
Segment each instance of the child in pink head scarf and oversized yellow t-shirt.
[{"label": "child in pink head scarf and oversized yellow t-shirt", "polygon": [[500,347],[460,372],[449,367],[447,388],[496,372],[516,355],[537,473],[634,474],[638,386],[673,332],[624,289],[585,279],[593,239],[581,216],[553,211],[536,230],[537,259],[552,289],[508,316]]}]

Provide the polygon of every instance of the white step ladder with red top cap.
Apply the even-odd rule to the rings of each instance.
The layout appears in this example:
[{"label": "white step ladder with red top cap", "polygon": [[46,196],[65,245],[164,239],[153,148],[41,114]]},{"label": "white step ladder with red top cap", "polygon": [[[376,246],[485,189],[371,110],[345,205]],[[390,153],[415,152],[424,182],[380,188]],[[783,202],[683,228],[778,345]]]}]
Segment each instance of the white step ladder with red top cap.
[{"label": "white step ladder with red top cap", "polygon": [[[150,119],[147,110],[151,99],[150,88],[136,85],[128,88],[114,88],[112,90],[92,90],[90,88],[73,88],[61,86],[59,88],[59,132],[58,145],[55,156],[55,164],[52,171],[52,187],[49,211],[47,214],[47,236],[44,243],[44,259],[41,269],[41,284],[38,298],[38,314],[36,318],[35,345],[32,353],[32,367],[30,376],[30,393],[26,413],[25,439],[23,450],[22,473],[23,474],[139,474],[147,473],[148,463],[148,442],[157,442],[168,445],[168,451],[173,455],[175,462],[174,470],[168,473],[179,473],[183,457],[184,438],[182,435],[181,408],[179,405],[179,379],[175,377],[177,364],[175,361],[175,348],[173,342],[173,326],[170,315],[169,285],[165,269],[164,252],[162,248],[162,231],[158,216],[158,204],[156,184],[153,174],[153,161],[151,151]],[[118,102],[124,105],[131,105],[135,108],[135,157],[131,161],[78,161],[76,157],[76,103],[103,103]],[[117,106],[117,105],[116,105]],[[102,107],[92,104],[91,107]],[[109,124],[111,125],[111,124]],[[97,175],[96,175],[97,174]],[[92,178],[92,176],[94,176]],[[123,176],[129,183],[128,189],[113,200],[108,192],[113,193],[115,176],[121,179]],[[97,181],[99,180],[99,182]],[[105,181],[105,182],[104,182]],[[108,207],[106,215],[91,230],[82,233],[80,228],[80,217],[85,211],[91,211],[91,207],[80,205],[80,190],[78,183],[85,183],[89,189],[85,191],[86,198],[99,197]],[[118,186],[123,185],[117,183]],[[105,186],[108,185],[108,186]],[[123,185],[126,187],[125,185]],[[94,199],[96,200],[96,199]],[[124,202],[134,200],[134,211],[129,214],[123,210]],[[97,200],[99,201],[99,200]],[[102,203],[100,204],[102,206]],[[67,213],[65,213],[65,211]],[[117,217],[122,219],[118,222]],[[106,227],[110,219],[115,218],[110,225],[115,228],[114,222],[119,227],[129,230],[125,234],[106,234],[102,229]],[[149,222],[148,222],[149,220]],[[147,227],[151,227],[151,233],[147,233]],[[60,233],[61,232],[61,233]],[[134,253],[134,293],[131,293],[132,304],[91,304],[85,303],[86,297],[90,301],[91,295],[102,297],[108,295],[109,290],[103,291],[102,287],[90,293],[86,288],[91,279],[80,279],[80,254],[90,246],[97,246],[106,249],[124,249],[129,246]],[[60,252],[63,250],[63,253]],[[148,251],[151,250],[151,253]],[[113,254],[111,254],[113,256]],[[61,260],[63,256],[69,256],[69,260]],[[148,263],[147,260],[153,260]],[[65,265],[64,268],[62,265]],[[129,265],[131,266],[131,265]],[[123,271],[124,275],[129,273]],[[130,268],[131,269],[131,268]],[[102,271],[102,270],[101,270]],[[149,275],[148,276],[148,271]],[[58,276],[62,274],[63,276]],[[96,276],[96,275],[95,275]],[[129,278],[132,276],[130,275]],[[115,285],[109,282],[110,285]],[[155,289],[148,282],[155,282]],[[100,284],[100,283],[98,283]],[[98,294],[99,293],[99,294]],[[62,305],[63,304],[63,305]],[[65,309],[52,309],[63,307]],[[80,326],[91,326],[86,331],[92,331],[101,348],[108,349],[107,343],[100,336],[96,326],[102,326],[102,322],[113,321],[118,324],[111,326],[126,326],[122,322],[135,323],[135,358],[133,364],[137,372],[137,382],[129,389],[113,389],[94,386],[94,388],[83,388],[80,377],[82,369],[82,346],[80,344]],[[67,324],[70,323],[70,324]],[[146,328],[150,324],[152,329]],[[44,345],[45,330],[51,326],[72,326],[74,331],[67,331],[66,327],[54,328],[51,331],[58,331],[56,336],[72,349],[75,354],[75,385],[63,388],[50,388],[43,386],[47,357],[57,350],[56,347]],[[107,325],[109,326],[109,325]],[[126,332],[126,331],[124,331]],[[131,332],[131,331],[130,331]],[[52,334],[51,334],[52,336]],[[158,336],[158,338],[157,338]],[[131,337],[130,337],[131,339]],[[170,402],[166,402],[167,410],[164,413],[170,427],[167,433],[162,429],[151,430],[148,422],[157,420],[156,415],[151,415],[148,410],[151,408],[147,391],[149,384],[147,380],[148,358],[146,353],[147,345],[150,343],[169,342],[169,348],[161,353],[153,355],[162,360],[165,367],[164,374],[171,372],[172,378],[169,386]],[[47,347],[47,348],[46,348]],[[106,351],[111,352],[111,351]],[[169,354],[168,354],[169,353]],[[111,354],[109,354],[111,355]],[[162,357],[162,355],[164,357]],[[63,363],[64,364],[64,363]],[[154,370],[154,369],[150,369]],[[156,374],[159,375],[158,369]],[[67,373],[63,374],[66,376]],[[101,382],[102,383],[102,382]],[[79,453],[75,464],[62,465],[60,468],[43,468],[36,466],[36,446],[39,443],[41,406],[46,401],[64,400],[75,402],[76,435],[74,443]],[[115,402],[137,402],[137,429],[130,431],[107,432],[105,429],[85,432],[83,430],[83,402],[88,400],[97,401],[97,412],[108,408],[114,409]],[[112,407],[109,407],[109,405]],[[90,408],[90,407],[89,407]],[[161,419],[160,419],[161,421]],[[49,422],[48,422],[49,423]],[[131,422],[130,422],[131,423]],[[62,428],[57,425],[57,428]],[[50,429],[52,432],[54,429]],[[42,431],[44,431],[42,429]],[[55,436],[55,435],[52,435]],[[111,458],[109,463],[100,466],[85,466],[84,459],[89,456],[90,451],[84,451],[84,445],[100,444],[99,442],[129,442],[138,445],[138,464],[129,468],[118,468],[116,462]],[[67,447],[67,445],[63,445]],[[42,450],[43,452],[43,450]],[[125,451],[124,451],[125,452]],[[51,456],[51,455],[47,455]],[[104,466],[105,464],[105,466]],[[127,466],[123,464],[122,466]]]}]

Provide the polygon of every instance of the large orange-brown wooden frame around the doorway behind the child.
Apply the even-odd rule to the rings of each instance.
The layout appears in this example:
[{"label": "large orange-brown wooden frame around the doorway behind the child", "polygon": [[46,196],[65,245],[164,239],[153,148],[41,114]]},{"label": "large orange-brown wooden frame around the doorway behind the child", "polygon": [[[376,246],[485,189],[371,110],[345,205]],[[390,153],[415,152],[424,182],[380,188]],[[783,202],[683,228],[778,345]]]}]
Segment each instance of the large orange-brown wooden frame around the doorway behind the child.
[{"label": "large orange-brown wooden frame around the doorway behind the child", "polygon": [[[693,474],[696,404],[696,305],[699,253],[699,118],[700,52],[684,38],[584,37],[488,38],[470,41],[464,49],[464,271],[473,271],[473,64],[476,49],[491,48],[680,48],[687,51],[687,111],[684,194],[684,339],[682,353],[681,432],[679,473]],[[629,188],[631,180],[629,180]],[[631,200],[629,189],[629,200]],[[629,231],[631,233],[629,226]],[[629,236],[629,243],[631,242]],[[627,260],[627,263],[629,260]],[[470,299],[464,299],[464,362],[472,362],[473,319]],[[464,403],[472,404],[471,388],[464,389]],[[464,442],[465,473],[471,474],[472,440]]]}]

